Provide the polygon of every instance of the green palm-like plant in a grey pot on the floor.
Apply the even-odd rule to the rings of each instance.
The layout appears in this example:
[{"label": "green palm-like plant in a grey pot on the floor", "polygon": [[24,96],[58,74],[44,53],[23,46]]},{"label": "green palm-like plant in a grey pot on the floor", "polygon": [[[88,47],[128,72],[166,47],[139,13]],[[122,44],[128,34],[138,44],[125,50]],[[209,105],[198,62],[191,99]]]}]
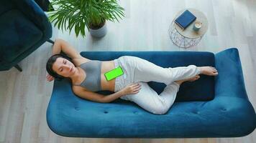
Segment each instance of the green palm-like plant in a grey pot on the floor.
[{"label": "green palm-like plant in a grey pot on the floor", "polygon": [[119,21],[124,8],[116,0],[52,0],[54,11],[49,11],[49,20],[58,29],[75,29],[76,36],[86,36],[85,29],[92,36],[106,35],[106,21]]}]

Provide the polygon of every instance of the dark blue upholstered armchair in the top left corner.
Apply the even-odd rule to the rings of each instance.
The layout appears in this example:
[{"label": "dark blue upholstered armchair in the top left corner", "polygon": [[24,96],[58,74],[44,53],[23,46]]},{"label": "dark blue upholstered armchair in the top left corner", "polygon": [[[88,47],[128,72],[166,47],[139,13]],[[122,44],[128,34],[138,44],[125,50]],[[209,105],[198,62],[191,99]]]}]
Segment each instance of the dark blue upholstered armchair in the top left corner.
[{"label": "dark blue upholstered armchair in the top left corner", "polygon": [[52,36],[52,26],[33,0],[0,5],[0,71],[11,69]]}]

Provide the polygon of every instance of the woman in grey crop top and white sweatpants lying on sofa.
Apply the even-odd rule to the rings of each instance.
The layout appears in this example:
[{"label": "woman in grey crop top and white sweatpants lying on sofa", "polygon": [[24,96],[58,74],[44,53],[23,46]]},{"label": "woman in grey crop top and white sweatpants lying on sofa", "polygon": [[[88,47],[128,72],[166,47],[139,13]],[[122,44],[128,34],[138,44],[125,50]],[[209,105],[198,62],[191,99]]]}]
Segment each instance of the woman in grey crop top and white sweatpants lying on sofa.
[{"label": "woman in grey crop top and white sweatpants lying on sofa", "polygon": [[[60,51],[68,56],[60,54]],[[73,92],[78,97],[104,103],[120,98],[135,102],[153,114],[168,112],[183,82],[196,81],[200,78],[199,74],[218,74],[211,66],[163,68],[136,56],[121,56],[111,61],[91,60],[81,56],[73,46],[62,39],[55,40],[46,69],[47,81],[69,78]],[[117,75],[119,77],[114,79],[105,76],[105,73],[109,73],[109,78],[113,78],[120,72],[122,75]],[[162,82],[167,86],[158,95],[147,82]],[[109,90],[114,94],[97,94],[100,90]]]}]

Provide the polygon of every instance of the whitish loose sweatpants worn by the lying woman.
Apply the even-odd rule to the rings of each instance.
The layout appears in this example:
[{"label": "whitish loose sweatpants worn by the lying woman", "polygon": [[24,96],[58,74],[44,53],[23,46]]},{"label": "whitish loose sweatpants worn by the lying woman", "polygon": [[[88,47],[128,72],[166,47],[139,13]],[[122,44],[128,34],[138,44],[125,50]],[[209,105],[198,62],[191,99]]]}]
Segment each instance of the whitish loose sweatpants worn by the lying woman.
[{"label": "whitish loose sweatpants worn by the lying woman", "polygon": [[[120,98],[134,102],[153,114],[165,114],[173,105],[180,87],[175,81],[200,74],[200,70],[195,65],[163,68],[136,56],[121,56],[114,59],[114,64],[115,67],[121,66],[124,71],[122,76],[116,78],[114,92],[118,92],[128,84],[141,84],[142,89],[139,93],[127,94]],[[158,95],[147,82],[162,82],[167,86]]]}]

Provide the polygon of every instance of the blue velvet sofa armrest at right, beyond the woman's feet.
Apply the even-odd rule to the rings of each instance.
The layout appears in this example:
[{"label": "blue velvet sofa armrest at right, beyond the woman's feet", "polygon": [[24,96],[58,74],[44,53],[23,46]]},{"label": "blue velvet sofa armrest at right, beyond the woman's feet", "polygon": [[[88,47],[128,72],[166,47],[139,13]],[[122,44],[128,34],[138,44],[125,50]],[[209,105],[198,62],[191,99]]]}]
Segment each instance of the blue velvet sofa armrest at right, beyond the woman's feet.
[{"label": "blue velvet sofa armrest at right, beyond the woman's feet", "polygon": [[215,78],[215,96],[239,97],[248,100],[237,48],[215,54],[215,66],[219,73]]}]

